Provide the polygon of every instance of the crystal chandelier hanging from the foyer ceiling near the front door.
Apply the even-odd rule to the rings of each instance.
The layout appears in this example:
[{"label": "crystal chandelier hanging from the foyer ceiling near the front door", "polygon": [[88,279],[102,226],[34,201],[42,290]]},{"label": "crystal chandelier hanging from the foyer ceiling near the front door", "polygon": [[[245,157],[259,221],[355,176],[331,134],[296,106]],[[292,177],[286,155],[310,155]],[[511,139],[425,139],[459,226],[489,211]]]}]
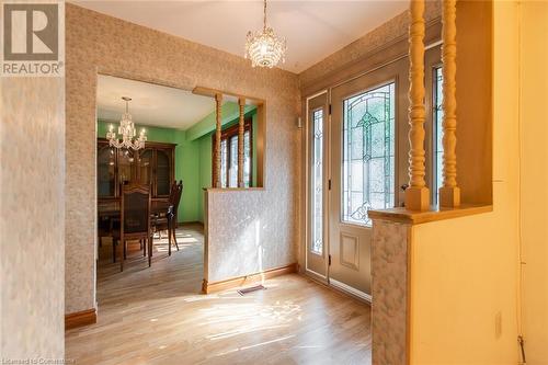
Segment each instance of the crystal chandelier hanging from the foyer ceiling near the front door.
[{"label": "crystal chandelier hanging from the foyer ceiling near the front door", "polygon": [[278,38],[272,27],[266,27],[266,0],[264,0],[263,31],[254,34],[248,32],[246,39],[246,58],[251,59],[251,66],[273,68],[282,60],[285,62],[285,38]]}]

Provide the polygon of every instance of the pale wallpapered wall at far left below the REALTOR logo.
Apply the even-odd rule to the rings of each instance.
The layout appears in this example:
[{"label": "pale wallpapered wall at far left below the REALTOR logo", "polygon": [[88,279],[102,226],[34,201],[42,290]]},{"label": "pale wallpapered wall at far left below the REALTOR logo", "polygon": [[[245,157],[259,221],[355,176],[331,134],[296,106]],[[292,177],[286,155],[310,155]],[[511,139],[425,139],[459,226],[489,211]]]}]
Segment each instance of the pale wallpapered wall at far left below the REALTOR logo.
[{"label": "pale wallpapered wall at far left below the REALTOR logo", "polygon": [[65,355],[65,80],[0,80],[0,354]]}]

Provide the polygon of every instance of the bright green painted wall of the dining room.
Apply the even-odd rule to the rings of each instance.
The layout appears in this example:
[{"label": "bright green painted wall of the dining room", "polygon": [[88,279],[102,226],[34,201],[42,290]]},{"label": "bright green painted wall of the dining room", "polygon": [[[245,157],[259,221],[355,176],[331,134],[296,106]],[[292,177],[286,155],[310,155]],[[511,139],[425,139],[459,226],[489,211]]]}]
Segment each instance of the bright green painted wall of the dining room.
[{"label": "bright green painted wall of the dining room", "polygon": [[[237,103],[227,102],[222,105],[222,127],[238,123],[239,109]],[[247,106],[246,117],[252,118],[253,141],[256,140],[256,109]],[[178,221],[204,221],[204,187],[212,187],[212,144],[215,130],[215,113],[207,115],[187,130],[138,126],[137,132],[145,128],[148,141],[176,144],[175,179],[184,183],[183,196],[179,207]],[[104,138],[109,126],[117,123],[98,121],[98,137]],[[256,183],[256,148],[253,148],[252,183]]]}]

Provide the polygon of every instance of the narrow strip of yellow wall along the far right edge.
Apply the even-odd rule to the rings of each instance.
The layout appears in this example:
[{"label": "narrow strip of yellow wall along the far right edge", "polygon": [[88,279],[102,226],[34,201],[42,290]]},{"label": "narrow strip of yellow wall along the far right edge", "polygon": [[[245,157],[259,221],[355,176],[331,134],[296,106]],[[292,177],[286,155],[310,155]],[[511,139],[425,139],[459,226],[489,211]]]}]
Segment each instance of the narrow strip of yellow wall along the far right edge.
[{"label": "narrow strip of yellow wall along the far right edge", "polygon": [[521,3],[522,329],[527,364],[548,364],[548,2]]}]

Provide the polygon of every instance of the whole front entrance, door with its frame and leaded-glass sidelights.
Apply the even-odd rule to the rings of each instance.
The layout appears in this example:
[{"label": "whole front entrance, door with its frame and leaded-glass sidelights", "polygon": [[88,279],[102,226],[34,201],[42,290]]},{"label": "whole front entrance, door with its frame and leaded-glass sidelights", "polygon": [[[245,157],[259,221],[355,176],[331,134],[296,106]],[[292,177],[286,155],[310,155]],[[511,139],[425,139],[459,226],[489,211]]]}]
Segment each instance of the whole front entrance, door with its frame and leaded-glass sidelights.
[{"label": "whole front entrance, door with its frame and leaded-glass sidelights", "polygon": [[[425,102],[434,111],[439,46],[426,50],[425,61]],[[307,100],[307,273],[366,300],[368,212],[400,206],[400,185],[409,181],[408,72],[408,59],[401,58]],[[432,115],[426,113],[425,123],[429,156],[435,148]],[[433,179],[431,161],[426,171]]]}]

